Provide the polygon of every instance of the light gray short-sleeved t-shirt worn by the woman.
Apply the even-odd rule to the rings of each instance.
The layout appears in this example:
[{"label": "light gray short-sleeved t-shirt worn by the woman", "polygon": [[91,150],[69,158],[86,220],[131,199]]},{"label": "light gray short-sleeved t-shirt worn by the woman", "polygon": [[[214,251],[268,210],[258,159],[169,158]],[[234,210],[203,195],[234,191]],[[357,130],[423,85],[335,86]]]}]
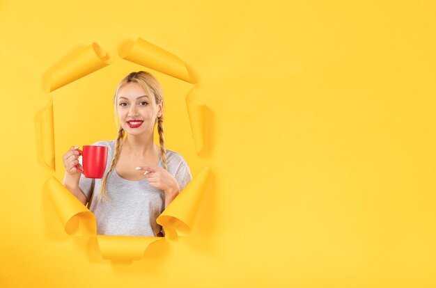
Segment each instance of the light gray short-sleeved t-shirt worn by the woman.
[{"label": "light gray short-sleeved t-shirt worn by the woman", "polygon": [[[98,235],[124,236],[160,236],[162,226],[156,223],[156,218],[165,209],[165,195],[163,190],[155,189],[148,184],[148,179],[139,181],[127,180],[116,173],[113,168],[106,183],[107,202],[102,198],[98,202],[100,187],[114,158],[115,140],[98,141],[92,145],[108,147],[107,165],[102,179],[86,178],[83,174],[79,180],[79,187],[89,198],[93,191],[90,210],[97,220]],[[79,157],[82,164],[82,157]],[[163,167],[162,157],[159,167]],[[180,191],[192,180],[191,171],[183,157],[177,152],[166,150],[166,166],[180,186]]]}]

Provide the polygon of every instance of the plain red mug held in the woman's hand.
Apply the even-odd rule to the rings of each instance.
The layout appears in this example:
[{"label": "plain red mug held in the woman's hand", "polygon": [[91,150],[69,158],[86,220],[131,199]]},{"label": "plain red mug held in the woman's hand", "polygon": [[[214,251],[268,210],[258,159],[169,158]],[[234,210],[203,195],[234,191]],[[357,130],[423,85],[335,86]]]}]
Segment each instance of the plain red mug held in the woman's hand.
[{"label": "plain red mug held in the woman's hand", "polygon": [[82,157],[84,170],[76,165],[76,168],[85,175],[86,178],[102,178],[106,170],[107,147],[98,145],[84,145],[84,150],[79,151]]}]

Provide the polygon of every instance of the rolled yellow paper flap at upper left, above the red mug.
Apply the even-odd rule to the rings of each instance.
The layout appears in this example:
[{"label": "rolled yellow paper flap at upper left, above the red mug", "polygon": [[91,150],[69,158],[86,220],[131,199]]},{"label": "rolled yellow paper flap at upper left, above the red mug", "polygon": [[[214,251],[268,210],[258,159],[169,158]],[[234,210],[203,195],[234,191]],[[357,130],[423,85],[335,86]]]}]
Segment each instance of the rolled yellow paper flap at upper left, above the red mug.
[{"label": "rolled yellow paper flap at upper left, above the red mug", "polygon": [[42,80],[43,88],[52,92],[109,64],[109,55],[94,42],[52,67]]}]

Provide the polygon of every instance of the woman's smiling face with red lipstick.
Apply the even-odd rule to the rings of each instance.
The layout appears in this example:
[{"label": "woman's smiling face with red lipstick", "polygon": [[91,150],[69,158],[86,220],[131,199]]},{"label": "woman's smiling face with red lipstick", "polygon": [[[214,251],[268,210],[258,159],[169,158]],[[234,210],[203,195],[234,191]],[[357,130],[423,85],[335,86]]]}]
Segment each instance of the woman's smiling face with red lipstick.
[{"label": "woman's smiling face with red lipstick", "polygon": [[153,136],[156,119],[162,115],[162,102],[156,104],[153,93],[139,83],[129,82],[118,91],[117,112],[127,134]]}]

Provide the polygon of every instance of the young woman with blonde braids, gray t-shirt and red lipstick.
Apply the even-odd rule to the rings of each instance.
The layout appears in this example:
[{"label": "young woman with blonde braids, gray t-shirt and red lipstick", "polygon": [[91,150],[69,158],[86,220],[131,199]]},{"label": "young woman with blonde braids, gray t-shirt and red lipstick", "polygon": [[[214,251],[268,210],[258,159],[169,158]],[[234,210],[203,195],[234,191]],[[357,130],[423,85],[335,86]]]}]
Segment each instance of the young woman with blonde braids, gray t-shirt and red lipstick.
[{"label": "young woman with blonde braids, gray t-shirt and red lipstick", "polygon": [[[88,202],[98,235],[164,236],[156,218],[192,175],[180,154],[165,149],[163,108],[164,95],[155,77],[132,72],[114,95],[117,138],[93,143],[108,147],[103,178],[88,179],[75,167],[82,163],[77,146],[63,155],[63,185],[84,205]],[[156,124],[160,146],[153,143]]]}]

